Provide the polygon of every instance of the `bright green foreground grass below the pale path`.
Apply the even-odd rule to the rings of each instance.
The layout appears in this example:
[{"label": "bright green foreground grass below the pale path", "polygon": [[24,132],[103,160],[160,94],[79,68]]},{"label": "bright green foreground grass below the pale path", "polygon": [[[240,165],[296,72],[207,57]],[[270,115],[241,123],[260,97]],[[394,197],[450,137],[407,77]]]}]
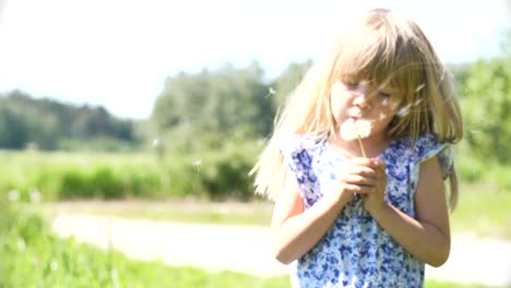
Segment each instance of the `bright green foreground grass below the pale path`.
[{"label": "bright green foreground grass below the pale path", "polygon": [[[112,204],[112,203],[110,203]],[[258,277],[233,272],[167,266],[161,261],[135,261],[74,239],[52,235],[48,223],[27,206],[0,203],[0,287],[177,287],[288,288],[289,278]],[[147,204],[146,204],[147,205]],[[186,206],[186,205],[185,205]],[[199,207],[202,208],[202,207]],[[231,205],[233,209],[243,206]],[[470,288],[426,280],[427,288]]]}]

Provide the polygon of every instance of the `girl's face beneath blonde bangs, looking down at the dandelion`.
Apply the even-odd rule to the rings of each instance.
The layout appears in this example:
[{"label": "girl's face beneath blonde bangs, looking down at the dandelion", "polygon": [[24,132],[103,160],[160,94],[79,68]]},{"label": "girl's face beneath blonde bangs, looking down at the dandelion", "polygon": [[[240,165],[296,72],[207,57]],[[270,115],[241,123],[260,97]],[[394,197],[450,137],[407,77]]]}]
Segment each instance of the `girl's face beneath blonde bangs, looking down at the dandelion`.
[{"label": "girl's face beneath blonde bangs, looking down at the dandelion", "polygon": [[[400,101],[401,95],[390,86],[336,82],[331,87],[331,109],[337,125],[343,128],[363,120],[370,125],[366,137],[387,136],[389,123],[396,115]],[[343,134],[341,136],[353,139]]]}]

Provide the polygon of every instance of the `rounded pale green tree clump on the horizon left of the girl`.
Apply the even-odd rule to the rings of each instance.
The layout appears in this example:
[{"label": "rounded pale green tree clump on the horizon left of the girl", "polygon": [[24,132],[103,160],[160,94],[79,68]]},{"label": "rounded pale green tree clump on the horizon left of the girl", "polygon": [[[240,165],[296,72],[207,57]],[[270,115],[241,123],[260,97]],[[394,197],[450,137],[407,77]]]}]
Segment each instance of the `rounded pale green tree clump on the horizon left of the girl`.
[{"label": "rounded pale green tree clump on the horizon left of the girl", "polygon": [[152,120],[158,131],[185,125],[229,133],[248,124],[253,133],[268,134],[274,108],[262,77],[257,62],[246,69],[225,64],[216,71],[180,73],[166,81]]}]

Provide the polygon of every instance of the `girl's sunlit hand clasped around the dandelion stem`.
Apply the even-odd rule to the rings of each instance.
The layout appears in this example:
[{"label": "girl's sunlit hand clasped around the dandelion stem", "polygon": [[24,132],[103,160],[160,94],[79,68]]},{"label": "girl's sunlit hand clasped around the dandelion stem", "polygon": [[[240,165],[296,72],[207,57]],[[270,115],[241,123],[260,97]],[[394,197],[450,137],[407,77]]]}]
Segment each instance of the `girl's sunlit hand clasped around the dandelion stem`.
[{"label": "girl's sunlit hand clasped around the dandelion stem", "polygon": [[379,163],[375,159],[353,158],[347,160],[345,168],[340,173],[338,187],[334,190],[336,200],[347,203],[355,193],[363,196],[375,194],[378,184],[378,166]]}]

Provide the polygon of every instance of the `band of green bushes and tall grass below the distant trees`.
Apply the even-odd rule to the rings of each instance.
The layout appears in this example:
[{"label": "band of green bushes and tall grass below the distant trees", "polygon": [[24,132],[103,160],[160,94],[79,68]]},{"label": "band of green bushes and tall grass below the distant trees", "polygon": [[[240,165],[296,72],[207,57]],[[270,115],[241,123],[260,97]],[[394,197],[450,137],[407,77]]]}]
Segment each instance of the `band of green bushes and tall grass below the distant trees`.
[{"label": "band of green bushes and tall grass below the distant trees", "polygon": [[236,199],[253,196],[253,142],[156,159],[151,154],[0,153],[0,194],[36,199]]}]

